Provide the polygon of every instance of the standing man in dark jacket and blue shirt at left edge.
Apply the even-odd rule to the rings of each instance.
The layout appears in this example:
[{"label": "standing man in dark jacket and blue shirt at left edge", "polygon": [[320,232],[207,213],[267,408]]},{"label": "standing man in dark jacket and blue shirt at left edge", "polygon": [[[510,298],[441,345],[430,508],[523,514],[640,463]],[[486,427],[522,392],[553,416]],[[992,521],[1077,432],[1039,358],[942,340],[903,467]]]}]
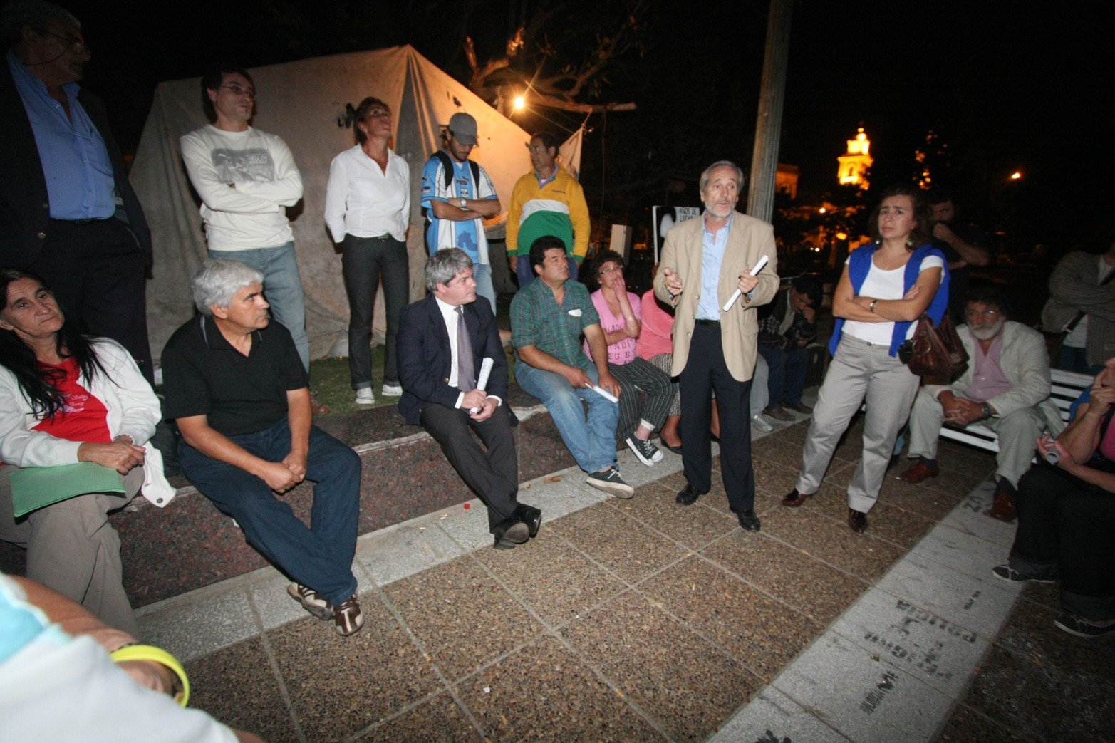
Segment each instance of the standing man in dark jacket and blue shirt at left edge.
[{"label": "standing man in dark jacket and blue shirt at left edge", "polygon": [[81,23],[41,0],[0,11],[0,266],[43,277],[93,335],[118,340],[153,380],[151,230],[100,99],[78,85]]}]

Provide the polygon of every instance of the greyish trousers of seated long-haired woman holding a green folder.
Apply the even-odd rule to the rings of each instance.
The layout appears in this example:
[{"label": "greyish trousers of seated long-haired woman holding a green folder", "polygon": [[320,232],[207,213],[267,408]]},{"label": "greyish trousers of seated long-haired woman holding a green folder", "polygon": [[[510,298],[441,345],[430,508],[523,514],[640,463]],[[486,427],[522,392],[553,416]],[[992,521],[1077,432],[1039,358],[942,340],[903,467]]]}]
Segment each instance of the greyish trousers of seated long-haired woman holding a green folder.
[{"label": "greyish trousers of seated long-haired woman holding a green folder", "polygon": [[124,592],[120,537],[108,523],[108,512],[139,492],[143,467],[124,476],[124,493],[78,495],[17,521],[8,476],[18,471],[11,464],[0,466],[0,539],[27,550],[27,577],[80,604],[106,625],[138,637]]}]

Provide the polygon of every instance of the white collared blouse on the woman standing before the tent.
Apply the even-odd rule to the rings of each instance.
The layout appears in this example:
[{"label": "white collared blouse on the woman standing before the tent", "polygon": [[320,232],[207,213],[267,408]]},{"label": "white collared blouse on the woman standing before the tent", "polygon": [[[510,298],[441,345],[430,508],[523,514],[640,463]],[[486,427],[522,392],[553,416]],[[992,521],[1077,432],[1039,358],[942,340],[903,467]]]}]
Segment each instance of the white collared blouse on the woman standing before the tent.
[{"label": "white collared blouse on the woman standing before the tent", "polygon": [[360,145],[333,157],[326,186],[326,224],[333,242],[346,234],[406,240],[410,224],[410,166],[387,151],[387,172]]}]

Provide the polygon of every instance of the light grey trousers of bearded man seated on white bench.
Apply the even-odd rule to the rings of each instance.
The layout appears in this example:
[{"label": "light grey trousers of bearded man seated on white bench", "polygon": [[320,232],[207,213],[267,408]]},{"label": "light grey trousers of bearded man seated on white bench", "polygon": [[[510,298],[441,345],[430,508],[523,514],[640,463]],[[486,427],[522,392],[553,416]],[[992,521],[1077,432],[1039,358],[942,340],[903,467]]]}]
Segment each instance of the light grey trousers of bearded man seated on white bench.
[{"label": "light grey trousers of bearded man seated on white bench", "polygon": [[[960,395],[958,390],[953,393]],[[910,414],[911,457],[937,459],[937,442],[943,423],[944,408],[941,404],[928,390],[919,392],[913,402],[913,413]],[[1018,488],[1018,479],[1030,469],[1035,442],[1046,427],[1041,413],[1036,407],[1026,407],[1001,418],[980,421],[979,425],[987,426],[999,435],[999,453],[995,456],[998,465],[996,476],[1004,477]]]}]

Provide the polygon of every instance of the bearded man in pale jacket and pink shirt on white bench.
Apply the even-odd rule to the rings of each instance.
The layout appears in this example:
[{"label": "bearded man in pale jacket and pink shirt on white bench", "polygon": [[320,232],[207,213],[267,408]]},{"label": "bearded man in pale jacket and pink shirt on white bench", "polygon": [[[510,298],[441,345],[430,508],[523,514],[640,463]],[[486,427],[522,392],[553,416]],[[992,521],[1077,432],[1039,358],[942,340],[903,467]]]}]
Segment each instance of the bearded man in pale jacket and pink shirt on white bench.
[{"label": "bearded man in pale jacket and pink shirt on white bench", "polygon": [[1029,470],[1043,431],[1064,428],[1049,399],[1049,357],[1040,332],[1008,319],[1006,295],[996,284],[972,284],[964,307],[967,325],[957,334],[968,351],[968,368],[951,385],[925,385],[910,414],[910,459],[918,462],[899,480],[919,483],[939,474],[937,441],[941,425],[978,423],[999,437],[991,517],[1017,515],[1018,479]]}]

